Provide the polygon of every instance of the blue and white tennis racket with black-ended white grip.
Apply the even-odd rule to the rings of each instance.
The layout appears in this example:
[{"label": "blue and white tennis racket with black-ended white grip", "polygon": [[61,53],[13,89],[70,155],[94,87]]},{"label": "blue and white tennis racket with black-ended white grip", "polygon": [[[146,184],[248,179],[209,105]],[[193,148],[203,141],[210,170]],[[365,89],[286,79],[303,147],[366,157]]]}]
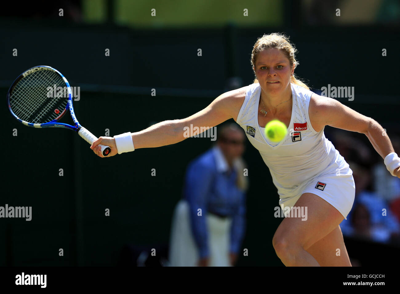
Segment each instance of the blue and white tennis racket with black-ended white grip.
[{"label": "blue and white tennis racket with black-ended white grip", "polygon": [[[54,85],[56,89],[62,87],[63,91],[54,91]],[[78,132],[79,136],[89,144],[97,140],[96,136],[81,126],[76,119],[70,84],[55,68],[44,65],[34,66],[20,74],[8,90],[7,104],[11,114],[26,126],[68,128]],[[75,123],[74,126],[58,122],[68,108]],[[99,146],[103,156],[110,154],[110,147]]]}]

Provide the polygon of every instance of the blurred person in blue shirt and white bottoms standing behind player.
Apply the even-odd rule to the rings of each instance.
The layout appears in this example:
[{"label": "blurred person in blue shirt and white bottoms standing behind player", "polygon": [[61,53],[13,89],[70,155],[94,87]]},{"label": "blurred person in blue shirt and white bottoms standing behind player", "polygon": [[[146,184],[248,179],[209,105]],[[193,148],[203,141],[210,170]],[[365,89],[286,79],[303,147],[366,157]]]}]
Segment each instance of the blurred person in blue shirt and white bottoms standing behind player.
[{"label": "blurred person in blue shirt and white bottoms standing behind player", "polygon": [[244,140],[236,124],[220,126],[215,146],[188,165],[172,221],[171,266],[235,264],[246,223]]}]

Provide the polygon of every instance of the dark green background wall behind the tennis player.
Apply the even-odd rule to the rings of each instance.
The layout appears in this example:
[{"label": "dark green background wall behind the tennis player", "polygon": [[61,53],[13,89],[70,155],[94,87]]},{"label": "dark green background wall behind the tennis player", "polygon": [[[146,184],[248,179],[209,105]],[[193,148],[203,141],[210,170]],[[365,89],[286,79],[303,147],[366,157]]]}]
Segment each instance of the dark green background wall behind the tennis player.
[{"label": "dark green background wall behind the tennis player", "polygon": [[[212,143],[208,138],[189,138],[100,159],[69,130],[36,130],[12,118],[6,92],[29,67],[53,66],[72,86],[81,86],[81,99],[74,102],[80,123],[97,136],[104,135],[106,128],[113,136],[190,116],[224,92],[230,76],[240,76],[244,85],[252,83],[250,54],[256,38],[284,31],[299,50],[296,73],[310,86],[354,86],[354,101],[338,100],[378,120],[389,136],[398,126],[400,41],[394,29],[135,31],[4,19],[0,27],[0,96],[4,98],[0,206],[32,206],[33,210],[30,222],[0,220],[4,236],[0,265],[116,265],[124,244],[168,244],[185,168]],[[12,56],[13,48],[18,49],[18,57]],[[105,48],[110,48],[110,57],[104,56]],[[197,48],[202,48],[203,56],[197,56]],[[388,56],[382,56],[382,48]],[[150,96],[152,88],[156,96]],[[14,128],[18,136],[12,136]],[[327,127],[328,138],[329,133]],[[281,221],[274,218],[276,188],[250,144],[244,159],[250,190],[242,248],[250,254],[241,257],[239,265],[282,265],[272,248]],[[60,168],[64,176],[58,176]],[[152,168],[156,176],[151,176]],[[104,216],[106,208],[109,217]],[[64,249],[63,257],[58,256],[59,248]]]}]

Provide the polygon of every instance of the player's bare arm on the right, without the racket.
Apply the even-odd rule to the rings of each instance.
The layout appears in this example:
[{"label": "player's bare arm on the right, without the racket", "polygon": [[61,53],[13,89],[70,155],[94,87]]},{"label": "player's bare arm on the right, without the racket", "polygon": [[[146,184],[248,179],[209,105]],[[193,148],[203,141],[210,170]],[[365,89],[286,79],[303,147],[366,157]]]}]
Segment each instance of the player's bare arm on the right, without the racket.
[{"label": "player's bare arm on the right, without the racket", "polygon": [[[376,120],[352,110],[338,100],[312,94],[308,114],[310,123],[316,131],[322,130],[324,126],[332,126],[358,132],[368,137],[382,158],[394,152],[392,142]],[[390,172],[400,178],[399,170],[400,168],[397,167]]]}]

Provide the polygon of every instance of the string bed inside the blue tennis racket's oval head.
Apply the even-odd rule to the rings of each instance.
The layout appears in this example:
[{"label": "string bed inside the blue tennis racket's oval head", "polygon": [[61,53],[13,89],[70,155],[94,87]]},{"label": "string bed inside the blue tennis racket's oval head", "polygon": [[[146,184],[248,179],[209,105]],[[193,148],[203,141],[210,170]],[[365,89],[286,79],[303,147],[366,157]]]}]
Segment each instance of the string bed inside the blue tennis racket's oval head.
[{"label": "string bed inside the blue tennis racket's oval head", "polygon": [[[63,88],[62,95],[48,97],[54,85]],[[38,70],[22,78],[10,94],[10,107],[18,118],[26,122],[41,124],[56,119],[66,108],[68,98],[65,95],[62,76],[53,70]],[[58,109],[58,111],[56,110]]]}]

